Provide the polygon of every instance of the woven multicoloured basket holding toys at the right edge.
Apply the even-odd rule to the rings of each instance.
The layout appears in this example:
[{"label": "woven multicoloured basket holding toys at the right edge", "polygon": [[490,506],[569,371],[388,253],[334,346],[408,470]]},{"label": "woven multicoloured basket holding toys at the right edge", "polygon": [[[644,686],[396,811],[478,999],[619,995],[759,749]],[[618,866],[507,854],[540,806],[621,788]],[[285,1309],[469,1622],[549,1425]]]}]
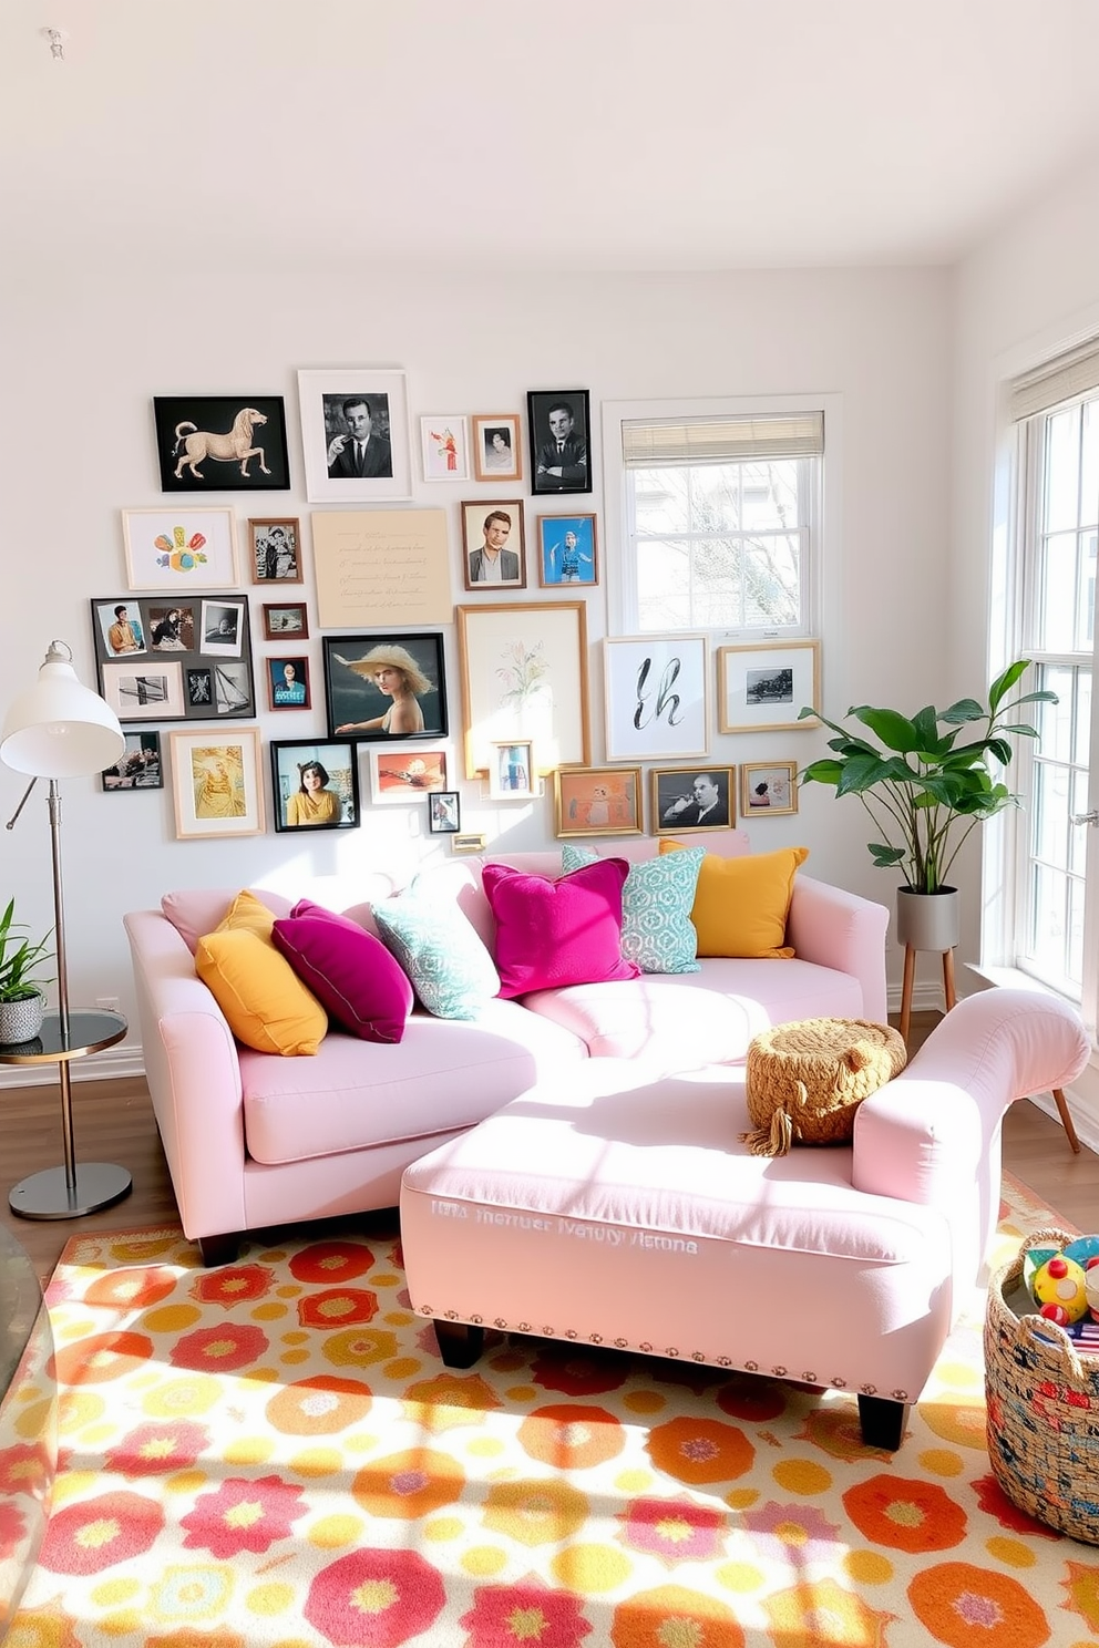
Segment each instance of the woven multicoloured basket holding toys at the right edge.
[{"label": "woven multicoloured basket holding toys at the right edge", "polygon": [[1064,1328],[1017,1317],[1028,1248],[1064,1248],[1071,1234],[1035,1231],[989,1284],[985,1402],[992,1473],[1012,1505],[1074,1539],[1099,1544],[1099,1356]]}]

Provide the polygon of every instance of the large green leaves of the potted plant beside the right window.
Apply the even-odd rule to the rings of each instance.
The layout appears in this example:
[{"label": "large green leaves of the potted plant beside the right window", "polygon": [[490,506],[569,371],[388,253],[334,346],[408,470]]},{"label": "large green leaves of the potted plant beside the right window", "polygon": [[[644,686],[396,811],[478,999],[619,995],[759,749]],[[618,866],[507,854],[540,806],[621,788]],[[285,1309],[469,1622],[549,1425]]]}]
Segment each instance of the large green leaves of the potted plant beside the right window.
[{"label": "large green leaves of the potted plant beside the right window", "polygon": [[[868,842],[880,868],[900,865],[916,893],[938,893],[947,885],[951,865],[969,832],[1018,796],[995,775],[1012,760],[1010,735],[1036,738],[1035,727],[1018,719],[1025,704],[1056,704],[1056,692],[1023,692],[1008,699],[1030,667],[1020,658],[989,687],[989,702],[959,699],[946,710],[933,704],[911,719],[898,710],[860,704],[847,710],[877,738],[842,723],[819,719],[835,737],[834,753],[811,761],[799,775],[806,784],[832,784],[835,798],[858,796],[885,840]],[[802,709],[799,720],[817,715]],[[959,737],[966,742],[959,743]]]}]

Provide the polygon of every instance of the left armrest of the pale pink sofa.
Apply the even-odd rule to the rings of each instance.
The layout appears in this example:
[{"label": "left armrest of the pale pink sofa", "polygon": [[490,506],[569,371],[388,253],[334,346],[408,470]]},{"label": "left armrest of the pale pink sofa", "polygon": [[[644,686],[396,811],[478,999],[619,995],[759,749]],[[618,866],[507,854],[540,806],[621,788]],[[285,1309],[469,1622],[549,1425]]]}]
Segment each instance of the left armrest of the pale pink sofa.
[{"label": "left armrest of the pale pink sofa", "polygon": [[158,910],[125,918],[145,1079],[188,1238],[247,1226],[237,1045],[194,957]]}]

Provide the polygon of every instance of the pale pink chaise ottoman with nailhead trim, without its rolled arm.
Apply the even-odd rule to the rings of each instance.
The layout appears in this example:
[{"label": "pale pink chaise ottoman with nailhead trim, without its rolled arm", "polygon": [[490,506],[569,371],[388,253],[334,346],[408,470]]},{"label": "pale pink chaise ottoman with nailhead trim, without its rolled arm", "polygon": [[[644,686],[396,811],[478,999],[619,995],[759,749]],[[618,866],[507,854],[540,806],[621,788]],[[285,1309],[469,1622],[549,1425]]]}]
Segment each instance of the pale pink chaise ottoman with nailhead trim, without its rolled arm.
[{"label": "pale pink chaise ottoman with nailhead trim, without its rolled arm", "polygon": [[[883,1089],[885,1091],[885,1089]],[[448,1366],[486,1327],[850,1391],[896,1449],[952,1315],[946,1213],[855,1190],[847,1145],[750,1155],[743,1073],[590,1060],[404,1173],[414,1309]]]}]

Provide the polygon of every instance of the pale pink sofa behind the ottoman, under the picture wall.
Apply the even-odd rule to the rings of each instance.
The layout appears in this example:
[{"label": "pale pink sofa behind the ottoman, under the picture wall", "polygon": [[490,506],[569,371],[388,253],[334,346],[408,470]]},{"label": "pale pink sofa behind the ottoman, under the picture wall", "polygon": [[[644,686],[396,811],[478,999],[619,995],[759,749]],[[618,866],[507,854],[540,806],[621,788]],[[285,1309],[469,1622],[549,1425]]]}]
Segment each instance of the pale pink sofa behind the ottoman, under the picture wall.
[{"label": "pale pink sofa behind the ottoman, under the picture wall", "polygon": [[[750,850],[741,831],[704,844],[727,857]],[[600,850],[643,860],[657,845],[626,839]],[[498,862],[550,877],[562,868],[559,850]],[[417,888],[455,903],[491,949],[483,864],[447,857],[420,873]],[[400,892],[384,875],[372,885],[379,895]],[[588,1058],[638,1060],[656,1079],[737,1065],[771,1023],[880,1022],[886,1012],[886,908],[797,873],[786,928],[794,959],[709,957],[699,972],[489,1000],[475,1020],[417,1009],[399,1045],[330,1032],[316,1055],[280,1058],[234,1040],[194,969],[198,939],[237,890],[175,892],[160,910],[125,916],[148,1089],[183,1229],[206,1262],[229,1257],[247,1229],[395,1206],[410,1162],[537,1083],[567,1088]],[[252,890],[288,913],[292,900]],[[348,893],[369,928],[369,900],[359,888]],[[344,900],[320,901],[336,908]]]}]

